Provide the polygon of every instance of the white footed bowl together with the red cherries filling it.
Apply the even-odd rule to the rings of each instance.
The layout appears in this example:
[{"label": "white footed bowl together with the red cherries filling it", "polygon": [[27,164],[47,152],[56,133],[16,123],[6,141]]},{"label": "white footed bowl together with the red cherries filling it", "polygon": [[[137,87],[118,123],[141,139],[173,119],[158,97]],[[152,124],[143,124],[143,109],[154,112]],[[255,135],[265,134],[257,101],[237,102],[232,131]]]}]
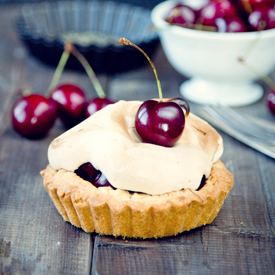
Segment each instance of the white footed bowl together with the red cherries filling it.
[{"label": "white footed bowl together with the red cherries filling it", "polygon": [[255,83],[275,67],[275,1],[165,1],[151,13],[163,50],[189,79],[184,98],[244,106],[263,96]]}]

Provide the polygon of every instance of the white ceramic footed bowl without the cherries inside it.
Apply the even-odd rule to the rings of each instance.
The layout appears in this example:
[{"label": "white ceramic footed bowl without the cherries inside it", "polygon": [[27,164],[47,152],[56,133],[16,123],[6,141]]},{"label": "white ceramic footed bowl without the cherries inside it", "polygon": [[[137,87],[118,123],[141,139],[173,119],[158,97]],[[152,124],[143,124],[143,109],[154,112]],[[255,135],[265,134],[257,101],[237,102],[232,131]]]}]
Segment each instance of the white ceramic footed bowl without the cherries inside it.
[{"label": "white ceramic footed bowl without the cherries inside it", "polygon": [[174,4],[173,1],[158,4],[151,19],[171,65],[190,77],[180,87],[183,97],[200,104],[218,101],[230,106],[259,100],[263,89],[254,83],[258,77],[238,58],[254,45],[247,63],[269,74],[275,67],[275,29],[216,33],[171,26],[164,18]]}]

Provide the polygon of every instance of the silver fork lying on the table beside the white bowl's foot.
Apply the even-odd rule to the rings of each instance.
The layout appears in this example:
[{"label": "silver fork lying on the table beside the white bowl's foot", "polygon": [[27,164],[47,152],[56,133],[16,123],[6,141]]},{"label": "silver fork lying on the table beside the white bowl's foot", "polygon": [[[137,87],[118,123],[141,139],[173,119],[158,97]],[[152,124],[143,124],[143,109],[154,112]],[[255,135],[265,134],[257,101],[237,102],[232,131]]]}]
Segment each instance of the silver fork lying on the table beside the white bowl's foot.
[{"label": "silver fork lying on the table beside the white bowl's foot", "polygon": [[248,139],[261,144],[275,145],[275,130],[272,131],[245,118],[227,105],[217,103],[215,105],[204,106],[204,109],[213,118],[245,135]]}]

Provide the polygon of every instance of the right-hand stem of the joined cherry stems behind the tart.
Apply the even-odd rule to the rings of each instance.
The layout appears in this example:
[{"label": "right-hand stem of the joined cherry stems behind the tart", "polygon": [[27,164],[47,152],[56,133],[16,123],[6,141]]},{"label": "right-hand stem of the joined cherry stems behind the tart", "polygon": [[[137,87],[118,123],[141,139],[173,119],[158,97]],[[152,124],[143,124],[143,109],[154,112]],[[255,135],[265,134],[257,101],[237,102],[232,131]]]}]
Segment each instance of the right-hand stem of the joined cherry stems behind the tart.
[{"label": "right-hand stem of the joined cherry stems behind the tart", "polygon": [[82,64],[82,66],[84,67],[88,77],[90,78],[91,82],[94,85],[95,91],[98,95],[98,97],[100,98],[105,98],[105,92],[100,84],[100,82],[98,81],[98,78],[96,77],[96,74],[94,72],[94,70],[92,69],[92,67],[90,66],[89,62],[87,61],[87,59],[73,46],[73,44],[71,44],[72,49],[71,49],[71,53],[78,59],[78,61]]}]

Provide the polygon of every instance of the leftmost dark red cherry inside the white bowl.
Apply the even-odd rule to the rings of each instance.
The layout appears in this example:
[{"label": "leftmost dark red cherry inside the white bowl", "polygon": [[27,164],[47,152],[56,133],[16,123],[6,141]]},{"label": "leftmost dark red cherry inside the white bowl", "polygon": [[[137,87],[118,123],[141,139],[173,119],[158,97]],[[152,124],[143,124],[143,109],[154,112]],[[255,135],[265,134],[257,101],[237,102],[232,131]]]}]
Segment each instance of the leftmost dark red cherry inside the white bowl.
[{"label": "leftmost dark red cherry inside the white bowl", "polygon": [[179,4],[173,7],[167,14],[166,21],[170,24],[180,25],[186,28],[192,28],[196,23],[196,12],[186,6]]}]

